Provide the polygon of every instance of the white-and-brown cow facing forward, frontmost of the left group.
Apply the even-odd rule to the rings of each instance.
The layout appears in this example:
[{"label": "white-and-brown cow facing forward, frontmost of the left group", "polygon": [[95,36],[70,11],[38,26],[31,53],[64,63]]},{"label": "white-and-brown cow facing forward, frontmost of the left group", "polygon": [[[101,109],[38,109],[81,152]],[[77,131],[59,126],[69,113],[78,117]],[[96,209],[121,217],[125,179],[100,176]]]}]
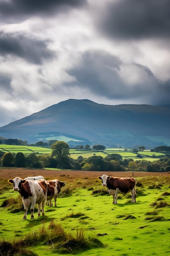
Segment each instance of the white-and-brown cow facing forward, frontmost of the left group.
[{"label": "white-and-brown cow facing forward, frontmost of the left group", "polygon": [[18,191],[22,196],[22,203],[24,205],[24,217],[28,211],[28,206],[31,204],[31,219],[34,219],[35,204],[38,204],[38,217],[40,217],[40,207],[42,206],[42,216],[44,216],[44,204],[47,195],[47,183],[45,180],[22,180],[20,177],[15,177],[13,180],[9,179],[9,183],[13,184],[13,190]]}]

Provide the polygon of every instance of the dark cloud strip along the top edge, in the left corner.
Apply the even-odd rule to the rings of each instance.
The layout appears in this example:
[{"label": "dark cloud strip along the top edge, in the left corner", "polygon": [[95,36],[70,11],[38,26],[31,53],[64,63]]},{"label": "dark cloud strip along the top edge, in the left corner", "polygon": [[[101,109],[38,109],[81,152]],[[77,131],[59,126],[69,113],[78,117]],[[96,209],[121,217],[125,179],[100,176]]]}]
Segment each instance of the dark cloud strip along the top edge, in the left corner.
[{"label": "dark cloud strip along the top edge, in the left corner", "polygon": [[86,0],[1,0],[0,19],[12,22],[30,16],[49,16],[86,4]]}]

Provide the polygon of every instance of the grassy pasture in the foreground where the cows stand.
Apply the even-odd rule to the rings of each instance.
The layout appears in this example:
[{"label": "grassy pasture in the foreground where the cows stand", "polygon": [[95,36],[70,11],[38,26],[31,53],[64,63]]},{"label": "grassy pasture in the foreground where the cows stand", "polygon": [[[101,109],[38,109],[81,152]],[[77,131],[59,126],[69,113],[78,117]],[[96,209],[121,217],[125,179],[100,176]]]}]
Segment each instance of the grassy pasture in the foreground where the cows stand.
[{"label": "grassy pasture in the foreground where the cows stand", "polygon": [[[57,207],[45,206],[45,216],[39,218],[36,209],[34,220],[30,220],[28,211],[27,219],[22,220],[21,196],[7,180],[35,174],[43,175],[46,180],[66,181],[66,186],[57,198]],[[119,194],[118,204],[112,204],[112,196],[97,179],[102,174],[134,175],[137,202],[130,203],[129,193]],[[70,238],[62,242],[64,249],[59,244],[62,238],[57,237],[59,229],[62,236],[67,234]],[[56,231],[55,236],[52,230]],[[169,256],[169,237],[169,173],[0,169],[1,241],[17,243],[22,240],[22,247],[31,250],[32,255]],[[82,241],[81,238],[86,240],[86,245],[75,243]]]}]

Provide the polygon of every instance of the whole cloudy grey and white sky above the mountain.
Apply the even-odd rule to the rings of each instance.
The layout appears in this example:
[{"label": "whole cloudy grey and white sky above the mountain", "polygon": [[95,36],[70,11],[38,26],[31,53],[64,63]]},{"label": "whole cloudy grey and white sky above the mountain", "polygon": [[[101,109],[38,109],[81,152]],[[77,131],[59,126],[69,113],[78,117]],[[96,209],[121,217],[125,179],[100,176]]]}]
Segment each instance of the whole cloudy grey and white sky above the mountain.
[{"label": "whole cloudy grey and white sky above the mountain", "polygon": [[170,1],[0,0],[0,126],[67,99],[170,103]]}]

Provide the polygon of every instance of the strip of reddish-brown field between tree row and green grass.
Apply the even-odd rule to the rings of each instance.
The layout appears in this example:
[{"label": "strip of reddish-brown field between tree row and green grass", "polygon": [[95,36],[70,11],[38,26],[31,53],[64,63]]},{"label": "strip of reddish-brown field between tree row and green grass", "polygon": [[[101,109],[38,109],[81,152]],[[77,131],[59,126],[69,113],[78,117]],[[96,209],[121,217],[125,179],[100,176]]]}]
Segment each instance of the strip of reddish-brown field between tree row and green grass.
[{"label": "strip of reddish-brown field between tree row and green grass", "polygon": [[170,176],[170,172],[166,173],[149,173],[149,172],[102,172],[102,171],[74,171],[74,170],[42,170],[42,169],[25,169],[25,168],[0,168],[0,179],[13,179],[21,177],[22,179],[28,176],[42,175],[45,179],[59,179],[60,176],[71,177],[98,177],[103,174],[114,177],[145,177],[145,176]]}]

